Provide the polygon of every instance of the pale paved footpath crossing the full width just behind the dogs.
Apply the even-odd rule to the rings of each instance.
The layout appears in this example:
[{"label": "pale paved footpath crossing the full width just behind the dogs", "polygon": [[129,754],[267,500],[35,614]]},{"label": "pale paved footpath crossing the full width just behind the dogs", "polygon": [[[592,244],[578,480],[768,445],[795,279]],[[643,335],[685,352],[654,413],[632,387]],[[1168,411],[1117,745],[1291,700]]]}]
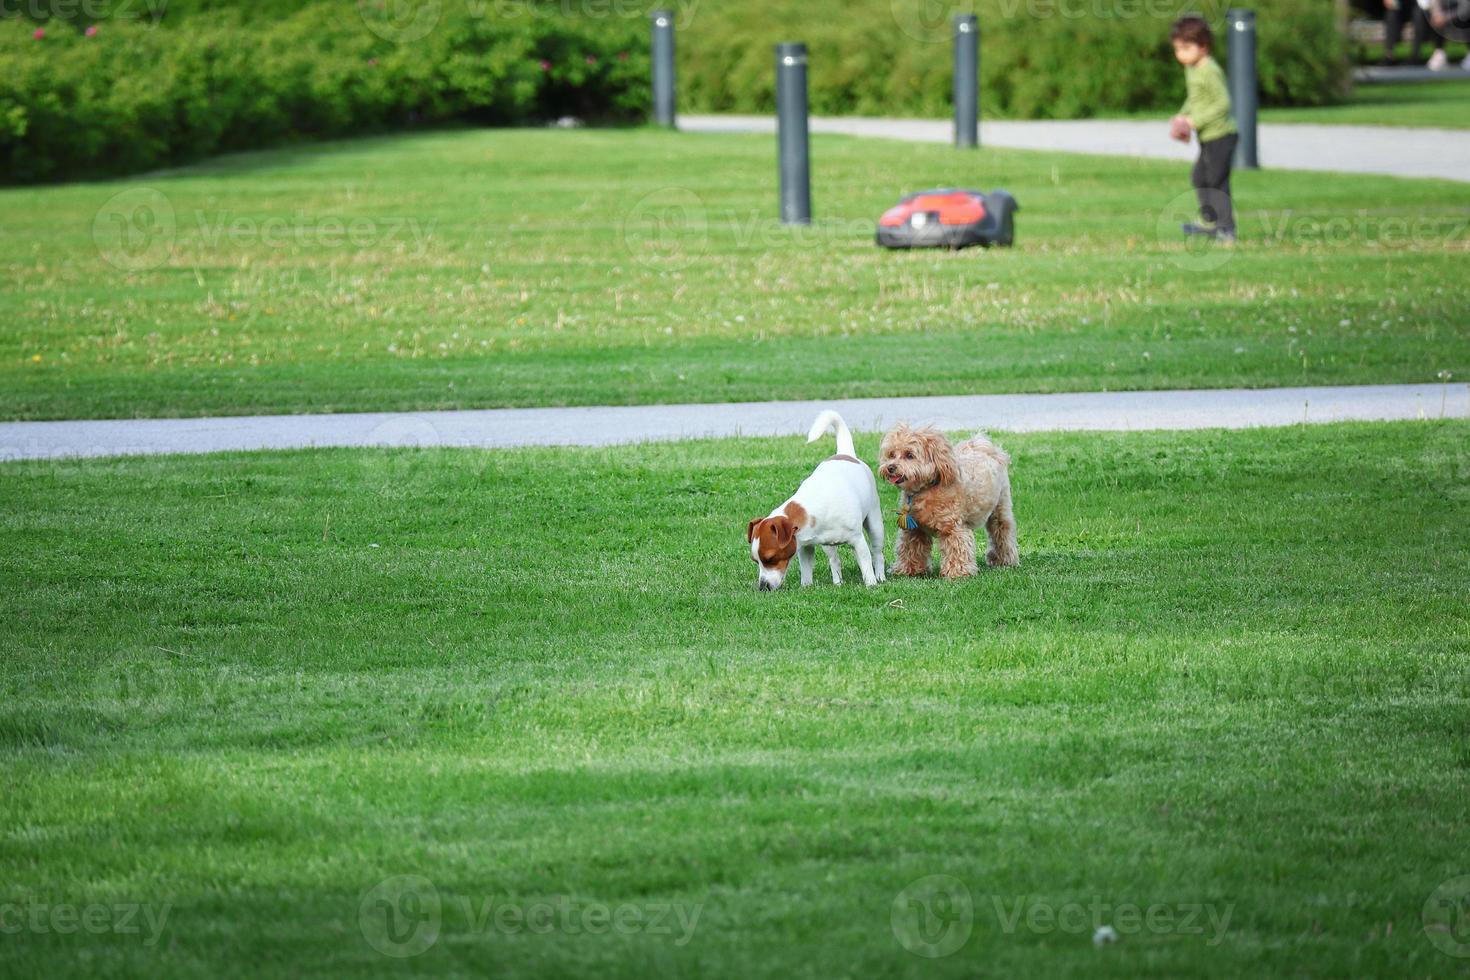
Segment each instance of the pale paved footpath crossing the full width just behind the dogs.
[{"label": "pale paved footpath crossing the full width just behind the dogs", "polygon": [[1363,385],[1067,395],[939,395],[595,408],[118,419],[0,423],[0,460],[307,447],[619,445],[732,435],[804,435],[822,408],[858,432],[898,420],[985,428],[1245,429],[1302,422],[1470,419],[1470,385]]}]

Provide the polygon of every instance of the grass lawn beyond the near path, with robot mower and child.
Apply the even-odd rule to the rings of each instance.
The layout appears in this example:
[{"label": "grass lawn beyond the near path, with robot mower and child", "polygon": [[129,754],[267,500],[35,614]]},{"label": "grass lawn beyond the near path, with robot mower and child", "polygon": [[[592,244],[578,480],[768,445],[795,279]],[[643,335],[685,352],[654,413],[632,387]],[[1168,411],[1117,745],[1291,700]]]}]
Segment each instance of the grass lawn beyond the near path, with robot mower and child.
[{"label": "grass lawn beyond the near path, with robot mower and child", "polygon": [[[0,417],[1432,381],[1470,373],[1470,185],[816,138],[450,131],[0,191]],[[1330,165],[1330,162],[1324,162]],[[1004,187],[1014,250],[889,254],[900,192]],[[119,197],[121,195],[121,197]],[[116,263],[116,264],[113,264]]]}]

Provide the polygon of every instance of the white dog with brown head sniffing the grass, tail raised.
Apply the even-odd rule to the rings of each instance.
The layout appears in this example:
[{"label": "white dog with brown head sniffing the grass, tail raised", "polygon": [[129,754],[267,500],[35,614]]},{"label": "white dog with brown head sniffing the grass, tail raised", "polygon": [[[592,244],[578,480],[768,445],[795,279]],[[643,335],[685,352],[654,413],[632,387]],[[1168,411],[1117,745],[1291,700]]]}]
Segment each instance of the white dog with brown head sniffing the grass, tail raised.
[{"label": "white dog with brown head sniffing the grass, tail raised", "polygon": [[797,555],[801,566],[801,585],[811,585],[816,545],[828,552],[833,585],[842,583],[838,545],[853,545],[863,585],[883,580],[883,510],[873,472],[853,451],[853,433],[847,430],[842,416],[823,411],[811,423],[807,442],[816,442],[832,430],[836,432],[836,455],[819,463],[797,492],[769,517],[757,517],[745,526],[750,557],[757,569],[756,588],[761,592],[781,588],[791,555]]}]

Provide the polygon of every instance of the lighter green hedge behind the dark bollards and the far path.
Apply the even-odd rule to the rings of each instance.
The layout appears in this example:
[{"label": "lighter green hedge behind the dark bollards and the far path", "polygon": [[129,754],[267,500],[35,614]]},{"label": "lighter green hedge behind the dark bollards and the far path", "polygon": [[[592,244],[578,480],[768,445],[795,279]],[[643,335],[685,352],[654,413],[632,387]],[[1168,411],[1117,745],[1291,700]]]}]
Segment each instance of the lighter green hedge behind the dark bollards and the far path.
[{"label": "lighter green hedge behind the dark bollards and the far path", "polygon": [[[673,6],[673,4],[670,4]],[[1266,104],[1323,104],[1348,82],[1329,0],[1247,0],[1257,10]],[[816,113],[944,116],[951,25],[980,18],[986,116],[1072,119],[1167,110],[1183,101],[1169,46],[1180,13],[1225,31],[1225,4],[1167,0],[704,0],[681,16],[681,107],[770,112],[778,41],[806,41]],[[1217,51],[1225,63],[1223,43]]]}]

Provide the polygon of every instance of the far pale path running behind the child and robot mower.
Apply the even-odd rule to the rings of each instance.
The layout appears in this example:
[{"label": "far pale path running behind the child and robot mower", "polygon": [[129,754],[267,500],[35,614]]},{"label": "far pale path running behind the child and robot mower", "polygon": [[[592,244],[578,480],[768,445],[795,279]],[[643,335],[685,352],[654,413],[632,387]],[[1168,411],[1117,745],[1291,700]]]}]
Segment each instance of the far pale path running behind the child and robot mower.
[{"label": "far pale path running behind the child and robot mower", "polygon": [[[982,122],[980,145],[1194,160],[1194,144],[1170,140],[1166,123],[1163,118]],[[810,126],[811,132],[914,143],[950,143],[954,135],[948,119],[816,116]],[[773,116],[679,116],[679,128],[688,132],[775,134],[776,120]],[[1466,129],[1261,123],[1257,144],[1261,166],[1270,169],[1470,181],[1470,131]]]}]

